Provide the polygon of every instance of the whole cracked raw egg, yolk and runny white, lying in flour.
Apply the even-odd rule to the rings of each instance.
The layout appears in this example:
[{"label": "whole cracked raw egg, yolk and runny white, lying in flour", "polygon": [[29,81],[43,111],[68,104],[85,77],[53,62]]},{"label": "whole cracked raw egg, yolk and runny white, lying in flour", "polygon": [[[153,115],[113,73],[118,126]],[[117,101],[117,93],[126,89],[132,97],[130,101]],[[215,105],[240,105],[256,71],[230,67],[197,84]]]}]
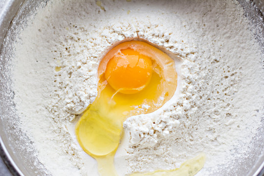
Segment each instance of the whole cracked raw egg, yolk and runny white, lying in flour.
[{"label": "whole cracked raw egg, yolk and runny white, lying in flour", "polygon": [[163,106],[177,86],[174,60],[139,41],[113,47],[98,68],[98,95],[76,125],[83,150],[98,162],[101,176],[117,176],[113,157],[132,115]]}]

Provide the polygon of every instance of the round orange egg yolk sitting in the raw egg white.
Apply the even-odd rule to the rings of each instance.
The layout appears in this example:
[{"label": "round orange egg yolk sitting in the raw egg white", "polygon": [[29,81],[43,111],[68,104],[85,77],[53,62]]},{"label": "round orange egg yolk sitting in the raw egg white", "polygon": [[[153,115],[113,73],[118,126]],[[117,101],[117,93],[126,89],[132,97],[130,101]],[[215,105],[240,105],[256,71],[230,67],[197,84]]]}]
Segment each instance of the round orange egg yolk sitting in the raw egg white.
[{"label": "round orange egg yolk sitting in the raw egg white", "polygon": [[107,64],[105,78],[116,91],[133,94],[145,88],[152,76],[151,58],[128,48],[114,55]]}]

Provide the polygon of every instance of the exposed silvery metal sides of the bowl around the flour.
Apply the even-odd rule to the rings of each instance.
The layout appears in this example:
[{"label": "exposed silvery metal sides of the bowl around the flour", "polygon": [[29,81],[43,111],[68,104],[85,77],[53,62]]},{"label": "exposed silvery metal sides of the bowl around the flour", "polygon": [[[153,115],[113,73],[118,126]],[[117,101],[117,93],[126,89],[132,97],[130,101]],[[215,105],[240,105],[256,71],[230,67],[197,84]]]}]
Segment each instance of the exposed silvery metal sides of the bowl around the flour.
[{"label": "exposed silvery metal sides of the bowl around the flour", "polygon": [[[36,157],[32,141],[19,129],[18,114],[13,102],[14,93],[11,89],[9,55],[6,48],[12,49],[15,39],[14,31],[24,22],[27,15],[34,12],[40,2],[47,0],[1,0],[0,1],[0,145],[4,152],[3,159],[15,175],[44,176],[49,175],[45,167]],[[253,19],[253,24],[264,31],[264,0],[239,0],[245,10],[245,16]],[[256,3],[258,8],[252,4]],[[256,36],[263,39],[263,34]],[[264,40],[262,40],[264,41]],[[263,43],[262,43],[263,44]],[[264,45],[263,45],[264,48]],[[264,49],[263,49],[264,50]],[[264,176],[264,118],[263,126],[254,141],[255,150],[249,157],[238,161],[234,173],[237,176]],[[1,152],[1,151],[0,151]],[[234,174],[232,174],[234,175]]]}]

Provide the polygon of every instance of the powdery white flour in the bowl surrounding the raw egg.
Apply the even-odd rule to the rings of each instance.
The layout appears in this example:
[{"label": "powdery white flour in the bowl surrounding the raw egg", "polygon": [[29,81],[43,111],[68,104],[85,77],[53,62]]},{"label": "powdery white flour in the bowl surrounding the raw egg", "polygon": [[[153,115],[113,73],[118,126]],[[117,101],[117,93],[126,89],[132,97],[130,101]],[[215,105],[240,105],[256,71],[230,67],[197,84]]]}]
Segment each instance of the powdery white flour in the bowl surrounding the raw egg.
[{"label": "powdery white flour in the bowl surrounding the raw egg", "polygon": [[263,114],[264,69],[236,1],[52,0],[30,20],[15,46],[15,102],[54,176],[97,175],[75,139],[76,114],[96,96],[102,56],[133,37],[181,57],[181,82],[166,106],[124,123],[118,172],[172,169],[205,152],[198,175],[224,176],[247,156]]}]

